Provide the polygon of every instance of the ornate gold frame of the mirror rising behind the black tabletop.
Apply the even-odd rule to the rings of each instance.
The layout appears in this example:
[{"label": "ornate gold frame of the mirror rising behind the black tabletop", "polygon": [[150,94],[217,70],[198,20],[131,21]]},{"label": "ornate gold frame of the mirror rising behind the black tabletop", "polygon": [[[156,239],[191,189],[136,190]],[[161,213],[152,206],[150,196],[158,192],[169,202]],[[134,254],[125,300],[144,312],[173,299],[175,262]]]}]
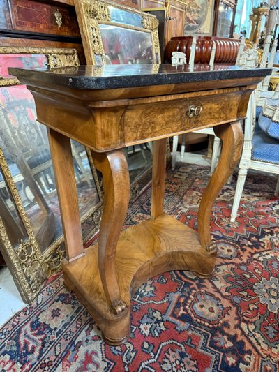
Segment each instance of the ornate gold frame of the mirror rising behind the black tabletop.
[{"label": "ornate gold frame of the mirror rising behind the black tabletop", "polygon": [[[108,9],[109,6],[140,15],[142,17],[142,27],[112,22],[110,19],[110,10]],[[153,45],[153,61],[154,63],[160,63],[158,20],[155,15],[143,13],[140,10],[111,3],[110,1],[99,0],[75,0],[75,10],[80,25],[86,63],[88,65],[99,64],[99,61],[101,61],[101,64],[106,64],[99,24],[111,24],[117,27],[150,33]]]}]

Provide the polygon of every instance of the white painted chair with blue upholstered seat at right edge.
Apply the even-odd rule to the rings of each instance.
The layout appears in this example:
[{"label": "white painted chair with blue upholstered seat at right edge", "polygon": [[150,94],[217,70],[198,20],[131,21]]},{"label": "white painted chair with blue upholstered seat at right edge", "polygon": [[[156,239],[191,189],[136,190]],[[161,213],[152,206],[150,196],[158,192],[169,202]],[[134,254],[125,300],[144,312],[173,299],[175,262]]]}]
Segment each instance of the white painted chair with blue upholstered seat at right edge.
[{"label": "white painted chair with blue upholstered seat at right edge", "polygon": [[[261,66],[265,67],[270,47],[270,37],[266,40]],[[268,66],[273,64],[275,47],[271,50]],[[268,92],[269,78],[258,85],[250,96],[245,122],[244,143],[239,161],[239,175],[232,206],[231,222],[236,220],[248,169],[279,174],[279,87],[276,92]],[[257,105],[260,106],[260,113]],[[257,107],[257,110],[256,110]],[[258,121],[257,121],[258,119]],[[277,121],[277,122],[276,122]],[[273,130],[271,124],[274,124]],[[269,129],[270,133],[269,133]],[[275,129],[274,129],[275,128]],[[278,131],[278,133],[277,133]],[[277,135],[277,137],[276,137]],[[279,193],[279,178],[275,195]]]}]

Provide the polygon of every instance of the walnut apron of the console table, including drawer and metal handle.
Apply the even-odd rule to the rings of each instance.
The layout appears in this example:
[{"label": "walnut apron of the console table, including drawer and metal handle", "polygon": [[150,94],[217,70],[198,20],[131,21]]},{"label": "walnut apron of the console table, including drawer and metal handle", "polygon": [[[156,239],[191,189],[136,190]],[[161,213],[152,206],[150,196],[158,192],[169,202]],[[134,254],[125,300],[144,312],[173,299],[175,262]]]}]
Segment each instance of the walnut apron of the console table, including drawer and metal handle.
[{"label": "walnut apron of the console table, including drawer and metal handle", "polygon": [[[202,94],[103,101],[59,101],[33,91],[38,121],[93,151],[104,152],[246,117],[254,86]],[[55,98],[55,99],[54,99]],[[40,109],[43,106],[43,110]]]}]

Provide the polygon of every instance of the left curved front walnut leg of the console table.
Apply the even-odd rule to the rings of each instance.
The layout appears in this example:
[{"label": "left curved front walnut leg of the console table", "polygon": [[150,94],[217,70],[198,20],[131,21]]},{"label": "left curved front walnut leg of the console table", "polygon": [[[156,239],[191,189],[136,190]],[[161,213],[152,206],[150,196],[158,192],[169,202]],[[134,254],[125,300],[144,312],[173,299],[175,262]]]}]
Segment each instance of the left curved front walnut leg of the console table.
[{"label": "left curved front walnut leg of the console table", "polygon": [[105,297],[117,315],[126,310],[117,283],[116,246],[130,198],[128,164],[123,149],[109,153],[92,151],[96,168],[103,174],[105,200],[98,239],[98,267]]}]

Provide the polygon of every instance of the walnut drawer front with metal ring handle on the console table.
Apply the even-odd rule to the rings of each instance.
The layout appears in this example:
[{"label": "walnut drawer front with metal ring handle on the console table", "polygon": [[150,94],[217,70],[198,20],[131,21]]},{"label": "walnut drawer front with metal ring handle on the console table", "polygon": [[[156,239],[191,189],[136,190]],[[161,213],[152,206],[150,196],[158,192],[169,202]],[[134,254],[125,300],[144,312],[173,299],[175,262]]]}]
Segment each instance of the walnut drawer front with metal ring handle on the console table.
[{"label": "walnut drawer front with metal ring handle on the console table", "polygon": [[122,117],[125,144],[167,137],[246,117],[251,91],[130,105]]}]

